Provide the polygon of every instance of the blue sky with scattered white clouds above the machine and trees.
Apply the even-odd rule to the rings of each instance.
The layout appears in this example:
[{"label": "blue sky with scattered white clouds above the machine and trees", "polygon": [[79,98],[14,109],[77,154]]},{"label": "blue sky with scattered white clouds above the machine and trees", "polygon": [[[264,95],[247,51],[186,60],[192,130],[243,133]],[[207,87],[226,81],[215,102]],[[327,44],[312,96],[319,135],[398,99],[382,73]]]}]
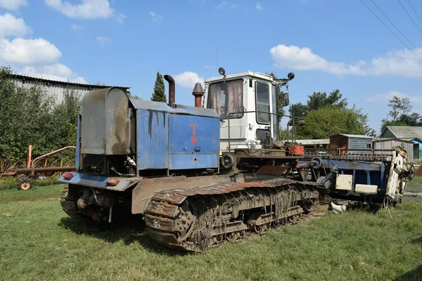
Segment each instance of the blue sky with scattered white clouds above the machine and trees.
[{"label": "blue sky with scattered white clouds above the machine and trees", "polygon": [[294,72],[290,103],[340,89],[379,133],[392,96],[422,115],[421,18],[416,0],[0,0],[0,65],[148,100],[170,74],[176,103],[194,105],[218,49],[226,74]]}]

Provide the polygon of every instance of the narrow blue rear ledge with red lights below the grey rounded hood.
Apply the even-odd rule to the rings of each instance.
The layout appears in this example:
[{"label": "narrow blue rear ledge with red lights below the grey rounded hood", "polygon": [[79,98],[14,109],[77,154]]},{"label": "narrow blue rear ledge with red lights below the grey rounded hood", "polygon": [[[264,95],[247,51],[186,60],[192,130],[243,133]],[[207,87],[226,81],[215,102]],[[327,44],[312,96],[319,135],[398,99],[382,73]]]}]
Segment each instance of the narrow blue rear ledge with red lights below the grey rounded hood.
[{"label": "narrow blue rear ledge with red lights below the grey rounded hood", "polygon": [[73,178],[70,180],[65,180],[63,178],[63,175],[58,178],[58,181],[60,183],[70,183],[75,185],[84,185],[88,186],[90,188],[101,188],[101,189],[107,189],[107,190],[115,190],[115,191],[124,191],[132,183],[137,183],[140,181],[140,178],[119,178],[113,176],[113,178],[118,178],[119,183],[117,185],[108,185],[106,183],[107,178],[110,178],[110,176],[95,176],[95,175],[89,175],[89,174],[80,174],[77,172],[72,172]]}]

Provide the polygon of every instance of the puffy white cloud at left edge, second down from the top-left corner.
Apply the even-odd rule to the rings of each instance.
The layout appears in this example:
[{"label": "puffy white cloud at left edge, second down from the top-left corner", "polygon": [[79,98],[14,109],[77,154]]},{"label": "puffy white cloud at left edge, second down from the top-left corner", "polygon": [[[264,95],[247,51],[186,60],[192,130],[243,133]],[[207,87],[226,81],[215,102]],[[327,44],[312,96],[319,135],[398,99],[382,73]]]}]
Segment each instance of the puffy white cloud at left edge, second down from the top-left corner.
[{"label": "puffy white cloud at left edge, second down from the top-left corner", "polygon": [[6,63],[18,65],[37,65],[56,63],[61,52],[42,38],[22,39],[16,38],[12,41],[0,39],[0,59]]}]

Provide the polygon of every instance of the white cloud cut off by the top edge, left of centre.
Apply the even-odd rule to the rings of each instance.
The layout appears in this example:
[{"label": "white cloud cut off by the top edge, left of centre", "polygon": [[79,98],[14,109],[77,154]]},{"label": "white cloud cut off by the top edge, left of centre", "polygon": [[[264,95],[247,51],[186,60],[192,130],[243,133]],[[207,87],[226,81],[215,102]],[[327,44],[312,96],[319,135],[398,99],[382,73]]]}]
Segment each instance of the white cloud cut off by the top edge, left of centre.
[{"label": "white cloud cut off by the top edge, left of centre", "polygon": [[63,0],[44,0],[44,2],[70,18],[110,18],[114,13],[108,0],[79,0],[82,2],[80,4],[71,4]]}]

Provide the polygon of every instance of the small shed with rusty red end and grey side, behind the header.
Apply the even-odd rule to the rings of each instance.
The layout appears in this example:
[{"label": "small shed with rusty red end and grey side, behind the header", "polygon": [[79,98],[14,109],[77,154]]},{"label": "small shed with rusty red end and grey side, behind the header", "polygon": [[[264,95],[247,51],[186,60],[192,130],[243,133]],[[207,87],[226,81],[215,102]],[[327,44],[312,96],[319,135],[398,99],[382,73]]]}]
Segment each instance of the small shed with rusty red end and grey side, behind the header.
[{"label": "small shed with rusty red end and grey side, behind the header", "polygon": [[372,149],[372,139],[371,136],[338,133],[330,137],[330,150],[345,149],[349,150],[348,154],[372,153],[367,151]]}]

